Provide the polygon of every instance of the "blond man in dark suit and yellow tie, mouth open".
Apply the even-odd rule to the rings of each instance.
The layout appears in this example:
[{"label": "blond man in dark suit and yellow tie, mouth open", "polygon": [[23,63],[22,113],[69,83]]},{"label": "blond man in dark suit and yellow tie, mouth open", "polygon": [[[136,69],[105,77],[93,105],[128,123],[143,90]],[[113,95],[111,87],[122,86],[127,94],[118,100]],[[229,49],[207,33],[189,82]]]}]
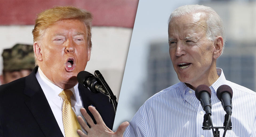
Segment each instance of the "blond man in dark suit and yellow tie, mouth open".
[{"label": "blond man in dark suit and yellow tie, mouth open", "polygon": [[32,31],[37,66],[0,86],[0,136],[78,136],[80,108],[90,105],[112,129],[115,112],[108,96],[77,82],[90,60],[91,21],[90,12],[69,6],[38,14]]}]

